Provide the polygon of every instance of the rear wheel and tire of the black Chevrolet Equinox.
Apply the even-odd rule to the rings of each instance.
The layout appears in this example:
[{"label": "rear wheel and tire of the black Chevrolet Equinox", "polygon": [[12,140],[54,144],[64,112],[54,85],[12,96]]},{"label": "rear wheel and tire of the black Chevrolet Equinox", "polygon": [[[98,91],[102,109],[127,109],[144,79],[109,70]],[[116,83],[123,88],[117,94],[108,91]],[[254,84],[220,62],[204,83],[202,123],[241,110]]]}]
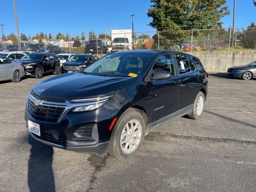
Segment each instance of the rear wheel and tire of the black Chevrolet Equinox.
[{"label": "rear wheel and tire of the black Chevrolet Equinox", "polygon": [[190,119],[196,120],[202,116],[204,112],[204,102],[205,102],[205,96],[203,92],[200,91],[196,96],[192,112],[188,114],[188,117]]}]

